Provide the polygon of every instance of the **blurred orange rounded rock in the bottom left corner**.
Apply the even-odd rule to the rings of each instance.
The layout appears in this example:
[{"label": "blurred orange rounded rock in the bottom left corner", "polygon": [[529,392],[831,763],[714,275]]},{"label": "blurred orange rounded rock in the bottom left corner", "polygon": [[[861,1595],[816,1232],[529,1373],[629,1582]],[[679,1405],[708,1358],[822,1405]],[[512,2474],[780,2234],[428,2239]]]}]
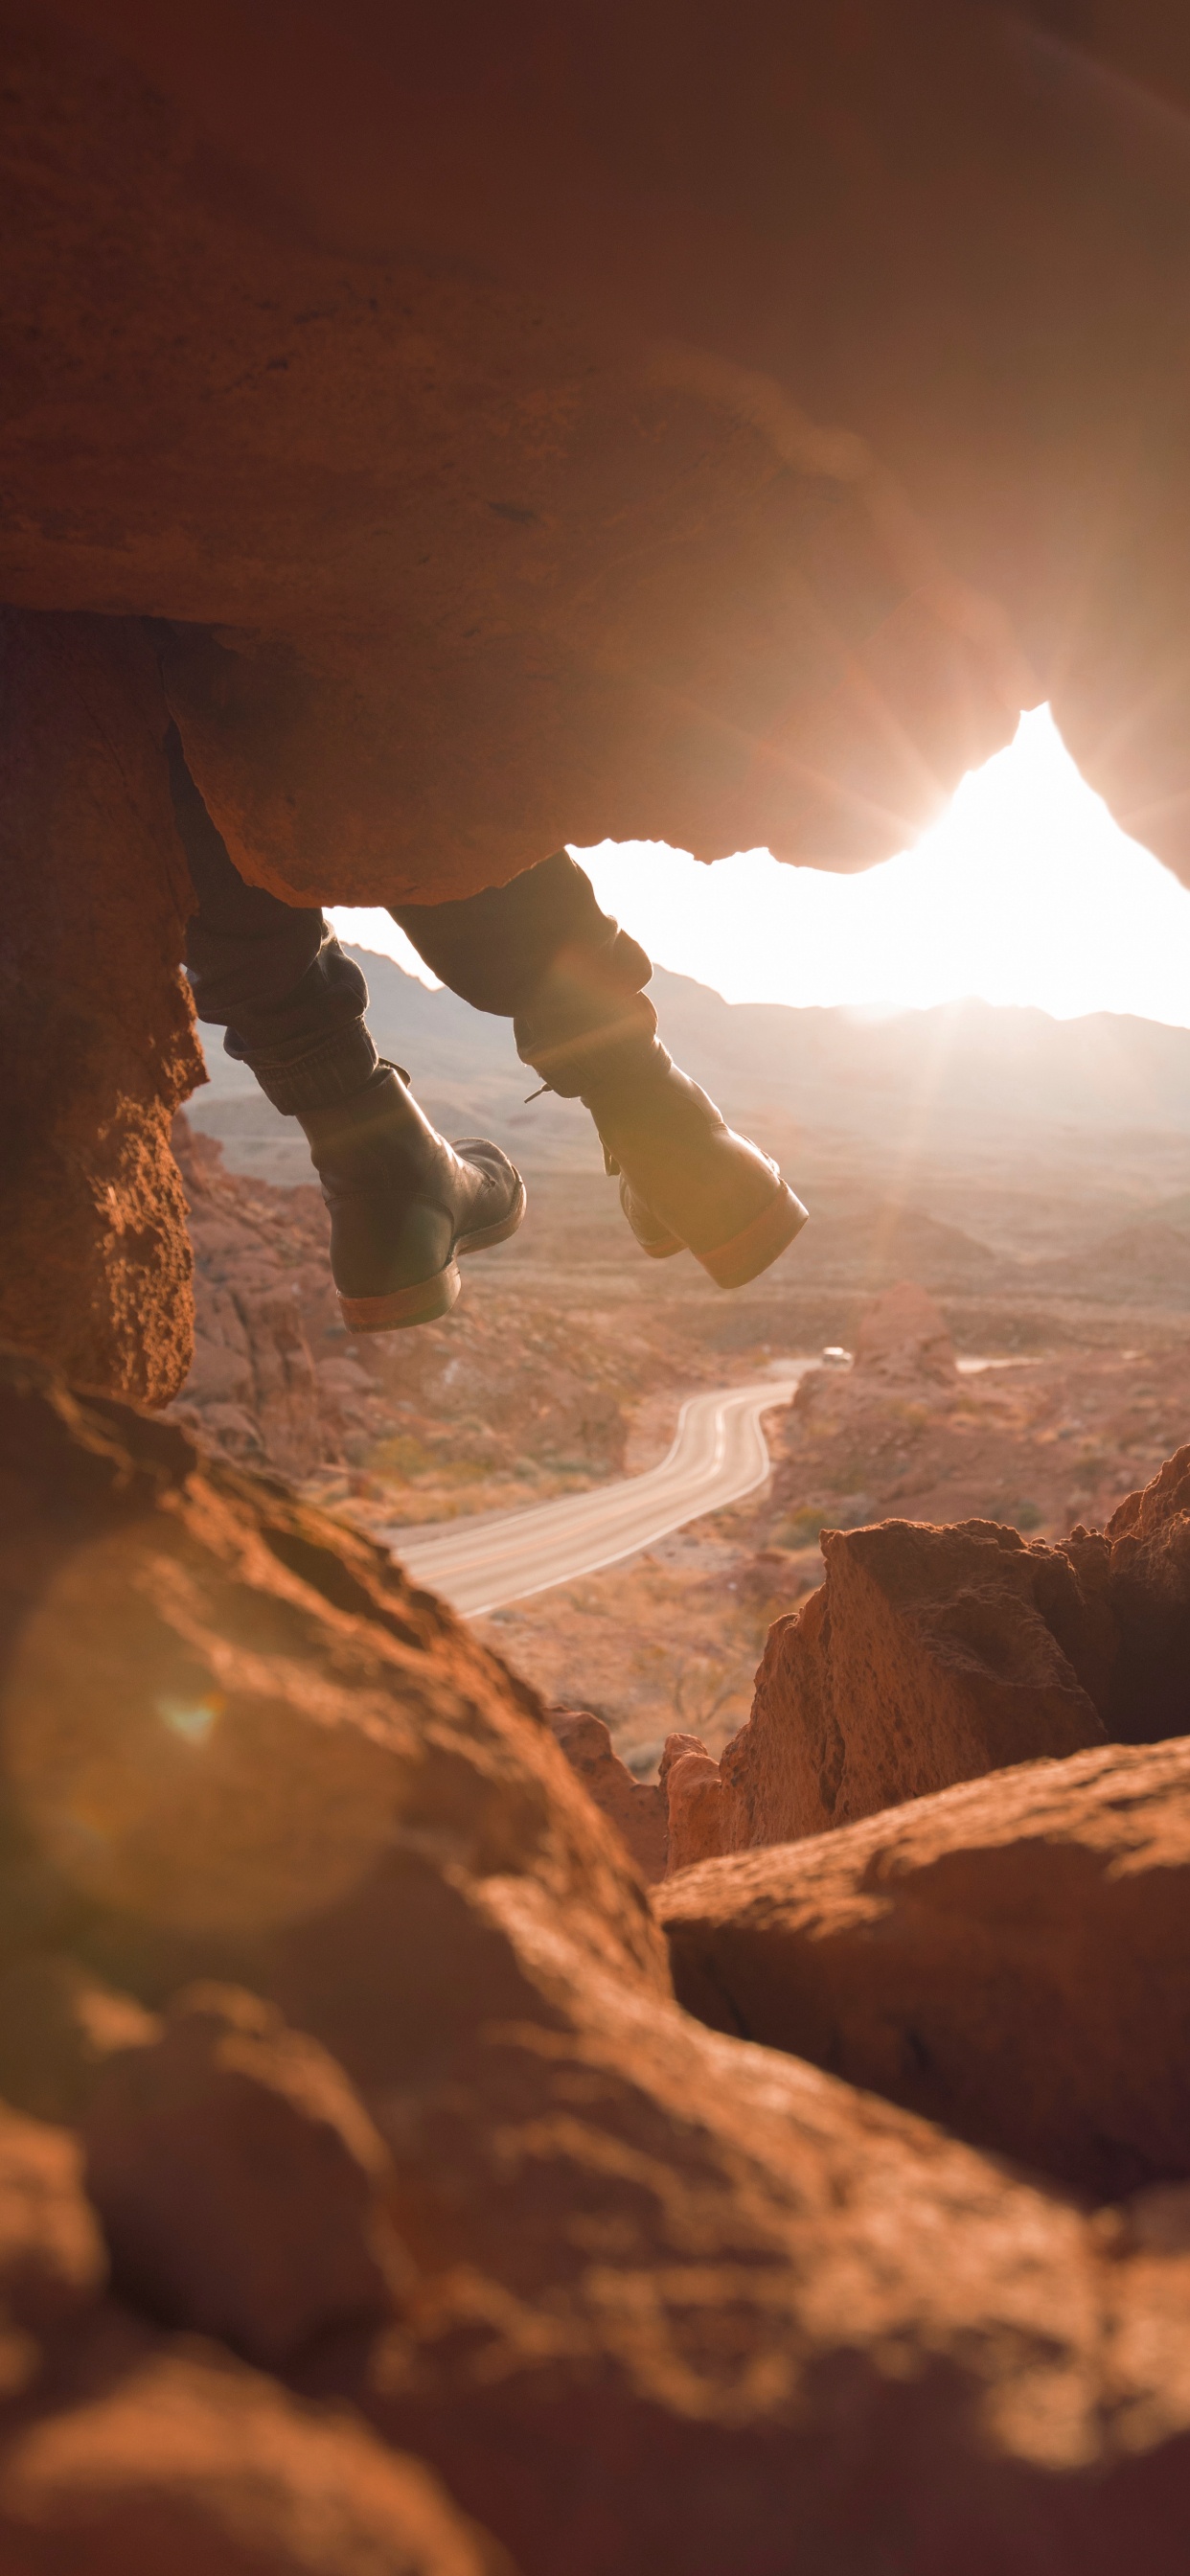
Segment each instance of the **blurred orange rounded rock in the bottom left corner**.
[{"label": "blurred orange rounded rock in the bottom left corner", "polygon": [[417,2460],[214,2349],[100,2347],[72,2398],[0,2442],[5,2576],[513,2576]]}]

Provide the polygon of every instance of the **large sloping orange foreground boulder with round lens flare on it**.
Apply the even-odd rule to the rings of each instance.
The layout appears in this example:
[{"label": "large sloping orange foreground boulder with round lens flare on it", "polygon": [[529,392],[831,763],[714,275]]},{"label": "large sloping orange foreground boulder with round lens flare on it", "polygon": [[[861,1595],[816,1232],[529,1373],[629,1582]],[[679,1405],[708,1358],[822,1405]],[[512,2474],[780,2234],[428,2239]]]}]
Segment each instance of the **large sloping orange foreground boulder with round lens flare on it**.
[{"label": "large sloping orange foreground boulder with round lens flare on it", "polygon": [[523,2576],[780,2576],[793,2527],[809,2576],[876,2576],[889,2530],[904,2576],[1175,2576],[1180,2239],[701,2030],[466,1631],[167,1425],[8,1386],[3,1942],[70,1927],[144,2004],[237,1973],[361,2089],[417,2282],[304,2393],[433,2460]]}]

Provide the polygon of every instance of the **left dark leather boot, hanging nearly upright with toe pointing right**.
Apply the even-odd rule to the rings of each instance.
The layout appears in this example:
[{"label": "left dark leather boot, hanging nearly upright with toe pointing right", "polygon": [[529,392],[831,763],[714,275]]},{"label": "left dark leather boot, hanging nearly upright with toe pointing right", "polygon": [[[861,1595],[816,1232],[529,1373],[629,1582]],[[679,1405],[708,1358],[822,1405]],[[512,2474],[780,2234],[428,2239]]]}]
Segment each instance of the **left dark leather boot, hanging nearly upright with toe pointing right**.
[{"label": "left dark leather boot, hanging nearly upright with toe pointing right", "polygon": [[330,1267],[348,1332],[402,1332],[451,1314],[458,1257],[507,1242],[525,1182],[477,1136],[446,1144],[410,1077],[379,1064],[327,1110],[299,1110],[330,1208]]}]

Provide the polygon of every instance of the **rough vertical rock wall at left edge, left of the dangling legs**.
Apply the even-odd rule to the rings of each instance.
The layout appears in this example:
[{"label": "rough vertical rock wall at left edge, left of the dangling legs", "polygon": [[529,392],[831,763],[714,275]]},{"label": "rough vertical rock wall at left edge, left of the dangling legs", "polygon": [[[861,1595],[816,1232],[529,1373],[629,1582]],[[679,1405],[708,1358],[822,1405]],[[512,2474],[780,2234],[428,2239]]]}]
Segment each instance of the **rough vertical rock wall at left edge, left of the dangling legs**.
[{"label": "rough vertical rock wall at left edge, left of the dangling legs", "polygon": [[157,659],[131,626],[8,613],[0,698],[0,1334],[165,1404],[193,1327],[170,1118],[203,1064]]}]

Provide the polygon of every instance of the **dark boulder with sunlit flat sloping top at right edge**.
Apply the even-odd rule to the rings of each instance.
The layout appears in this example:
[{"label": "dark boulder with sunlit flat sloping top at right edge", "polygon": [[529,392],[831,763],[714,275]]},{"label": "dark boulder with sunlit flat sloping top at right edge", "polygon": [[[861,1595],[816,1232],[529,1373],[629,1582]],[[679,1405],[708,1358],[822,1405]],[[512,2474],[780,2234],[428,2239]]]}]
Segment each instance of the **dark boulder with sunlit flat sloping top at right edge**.
[{"label": "dark boulder with sunlit flat sloping top at right edge", "polygon": [[1190,1744],[1028,1765],[659,1896],[688,2012],[1097,2200],[1190,2174]]}]

